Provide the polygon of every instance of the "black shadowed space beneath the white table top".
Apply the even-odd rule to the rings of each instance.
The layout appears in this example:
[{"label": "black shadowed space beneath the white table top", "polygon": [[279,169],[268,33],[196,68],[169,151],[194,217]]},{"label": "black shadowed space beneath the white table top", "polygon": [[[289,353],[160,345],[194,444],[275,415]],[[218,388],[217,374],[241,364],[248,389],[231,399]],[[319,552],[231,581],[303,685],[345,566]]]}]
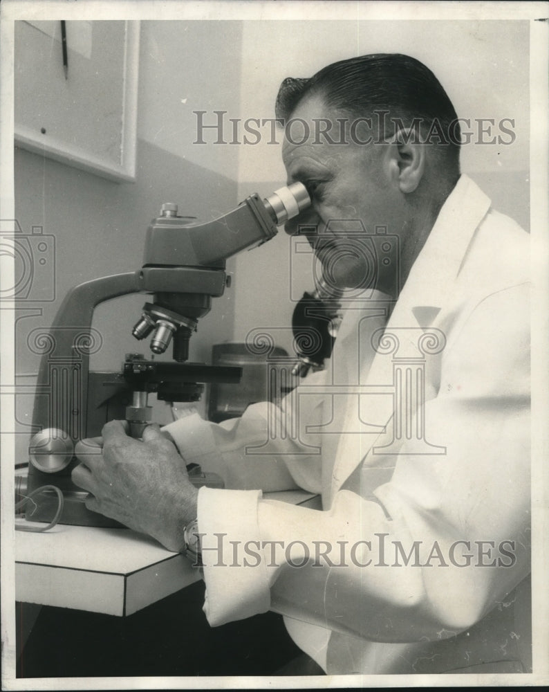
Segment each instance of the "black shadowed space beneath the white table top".
[{"label": "black shadowed space beneath the white table top", "polygon": [[273,675],[301,654],[267,612],[210,628],[202,581],[129,617],[43,606],[20,650],[17,677]]}]

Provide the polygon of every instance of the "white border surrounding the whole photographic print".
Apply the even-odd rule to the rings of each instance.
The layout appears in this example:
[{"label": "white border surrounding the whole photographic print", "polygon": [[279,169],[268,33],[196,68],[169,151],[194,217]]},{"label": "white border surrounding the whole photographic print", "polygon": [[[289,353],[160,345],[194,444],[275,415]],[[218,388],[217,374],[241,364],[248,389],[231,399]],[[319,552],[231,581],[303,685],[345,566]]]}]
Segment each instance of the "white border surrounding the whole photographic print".
[{"label": "white border surrounding the whole photographic print", "polygon": [[[12,584],[13,528],[12,528],[12,469],[4,464],[2,475],[3,516],[2,541],[2,638],[4,658],[2,667],[3,689],[258,689],[258,688],[340,688],[340,687],[415,687],[415,686],[540,686],[549,683],[549,608],[547,575],[549,574],[548,535],[548,392],[549,372],[546,354],[549,343],[549,271],[548,243],[548,85],[547,73],[549,21],[534,21],[549,17],[546,2],[301,2],[301,1],[209,1],[192,0],[147,0],[104,1],[52,0],[3,0],[0,6],[1,19],[1,73],[0,89],[3,103],[12,103],[12,32],[13,19],[96,19],[99,13],[109,19],[528,19],[531,26],[530,43],[530,106],[531,106],[531,203],[532,203],[532,276],[536,300],[532,304],[532,324],[537,329],[532,334],[532,402],[534,421],[532,424],[534,444],[532,468],[532,583],[534,592],[534,671],[531,675],[348,675],[321,677],[201,677],[201,678],[62,678],[15,680],[15,662],[10,653],[14,641],[15,626],[8,621],[8,610],[12,608],[14,591]],[[319,17],[322,13],[322,17]],[[2,172],[0,188],[0,219],[13,218],[13,155],[12,114],[9,108],[1,113],[0,160]],[[11,172],[6,175],[6,172]],[[2,258],[0,257],[0,262]],[[12,274],[6,262],[0,265],[3,279],[10,284]],[[6,304],[3,305],[5,307]],[[6,306],[7,307],[7,306]],[[2,329],[0,336],[3,382],[13,377],[12,311],[0,311]],[[10,421],[13,415],[12,397],[3,397],[2,421]],[[5,425],[3,422],[2,425]],[[7,427],[7,426],[6,426]],[[4,437],[4,436],[3,436]],[[3,439],[6,457],[12,453],[12,439]],[[182,628],[184,623],[182,623]],[[196,643],[199,646],[199,643]],[[32,684],[32,688],[30,685]]]}]

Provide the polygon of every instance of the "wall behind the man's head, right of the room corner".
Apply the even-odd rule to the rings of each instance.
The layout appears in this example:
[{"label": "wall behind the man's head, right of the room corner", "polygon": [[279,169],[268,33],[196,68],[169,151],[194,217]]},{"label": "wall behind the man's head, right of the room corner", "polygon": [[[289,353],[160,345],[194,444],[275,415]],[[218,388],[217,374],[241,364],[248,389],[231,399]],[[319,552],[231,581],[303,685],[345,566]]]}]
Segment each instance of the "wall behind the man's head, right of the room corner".
[{"label": "wall behind the man's head, right of the room corner", "polygon": [[[243,27],[241,118],[272,118],[278,86],[326,64],[366,53],[406,53],[425,62],[445,86],[461,118],[514,119],[512,145],[470,144],[462,170],[494,206],[529,226],[529,27],[525,21],[247,21]],[[507,125],[509,127],[509,125]],[[239,148],[239,195],[268,193],[286,181],[280,146],[261,141]],[[484,140],[490,139],[483,136]],[[281,136],[279,136],[281,141]],[[228,147],[225,147],[228,148]],[[291,295],[310,289],[310,276],[291,271],[283,233],[236,258],[234,335],[259,326],[288,326]],[[257,295],[261,299],[257,299]],[[292,348],[290,332],[279,332]]]}]

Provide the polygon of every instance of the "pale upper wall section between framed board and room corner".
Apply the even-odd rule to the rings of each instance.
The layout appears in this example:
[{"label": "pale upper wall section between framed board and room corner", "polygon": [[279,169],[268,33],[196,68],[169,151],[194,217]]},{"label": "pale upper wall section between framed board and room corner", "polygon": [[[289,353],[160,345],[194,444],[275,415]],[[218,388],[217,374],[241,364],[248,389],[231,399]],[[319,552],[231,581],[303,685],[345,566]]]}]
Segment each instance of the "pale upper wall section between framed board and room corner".
[{"label": "pale upper wall section between framed board and room corner", "polygon": [[238,113],[242,22],[162,20],[141,27],[138,136],[236,179],[239,147],[194,144],[193,111]]}]

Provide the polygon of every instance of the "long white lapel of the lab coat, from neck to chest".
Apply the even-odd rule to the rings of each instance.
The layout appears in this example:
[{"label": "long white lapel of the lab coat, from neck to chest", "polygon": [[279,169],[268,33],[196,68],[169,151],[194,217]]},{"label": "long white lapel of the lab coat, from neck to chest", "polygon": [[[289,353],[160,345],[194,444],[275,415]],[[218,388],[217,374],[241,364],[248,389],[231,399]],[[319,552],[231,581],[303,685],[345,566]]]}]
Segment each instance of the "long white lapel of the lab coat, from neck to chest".
[{"label": "long white lapel of the lab coat, from neck to chest", "polygon": [[[431,327],[438,313],[445,307],[456,284],[467,248],[472,242],[474,232],[490,208],[490,199],[469,177],[462,175],[456,183],[435,224],[414,262],[409,277],[395,304],[393,312],[384,329],[413,330]],[[412,332],[410,331],[411,335]],[[364,372],[366,370],[366,372]],[[379,386],[391,383],[393,362],[390,356],[377,353],[371,365],[364,367],[360,382]],[[367,435],[357,434],[357,418],[353,410],[353,396],[348,397],[348,410],[344,424],[344,434],[340,436],[335,456],[331,482],[331,498],[345,480],[369,453],[378,439],[364,426]],[[390,397],[364,397],[361,403],[363,421],[378,426],[387,425],[393,415]],[[382,401],[379,401],[382,399]]]}]

